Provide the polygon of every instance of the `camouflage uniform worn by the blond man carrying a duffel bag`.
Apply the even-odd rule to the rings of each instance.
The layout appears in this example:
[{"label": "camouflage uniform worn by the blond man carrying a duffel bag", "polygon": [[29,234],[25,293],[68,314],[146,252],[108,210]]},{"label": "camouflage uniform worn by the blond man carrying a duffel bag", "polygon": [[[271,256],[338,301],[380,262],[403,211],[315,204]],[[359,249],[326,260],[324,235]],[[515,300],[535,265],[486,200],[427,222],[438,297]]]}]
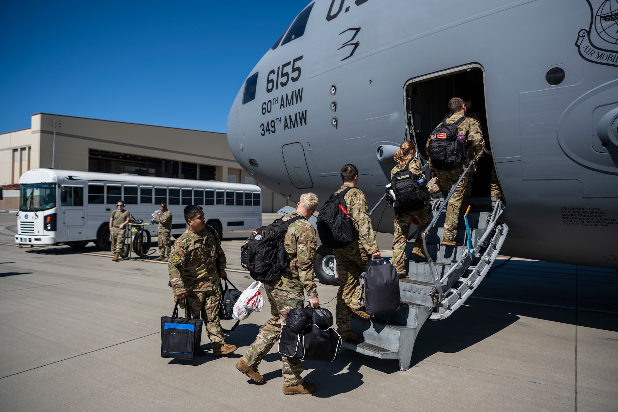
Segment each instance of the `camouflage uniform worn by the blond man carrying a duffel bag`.
[{"label": "camouflage uniform worn by the blond man carrying a duffel bag", "polygon": [[[294,211],[282,217],[282,220],[290,220],[298,215],[300,212]],[[315,229],[311,223],[306,219],[299,219],[288,226],[284,244],[290,264],[281,274],[281,278],[263,284],[273,317],[260,328],[255,342],[243,356],[244,361],[255,370],[274,343],[279,340],[281,326],[286,323],[287,313],[294,307],[304,306],[303,290],[310,299],[318,297],[313,278],[313,260],[317,243]],[[300,361],[289,359],[287,356],[281,356],[281,360],[284,387],[302,384],[300,374],[303,372],[303,367]]]}]

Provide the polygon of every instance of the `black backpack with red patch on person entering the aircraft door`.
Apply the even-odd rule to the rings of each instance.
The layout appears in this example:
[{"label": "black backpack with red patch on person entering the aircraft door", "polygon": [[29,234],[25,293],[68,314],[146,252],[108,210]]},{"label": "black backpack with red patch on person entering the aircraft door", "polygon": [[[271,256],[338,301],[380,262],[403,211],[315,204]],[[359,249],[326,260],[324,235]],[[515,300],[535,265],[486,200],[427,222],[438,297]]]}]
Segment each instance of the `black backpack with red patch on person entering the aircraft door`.
[{"label": "black backpack with red patch on person entering the aircraft door", "polygon": [[446,119],[452,115],[447,115],[440,126],[436,127],[430,135],[430,144],[427,147],[427,155],[431,164],[438,170],[451,170],[464,163],[467,157],[465,137],[459,137],[457,126],[468,118],[462,116],[458,121],[447,124]]}]

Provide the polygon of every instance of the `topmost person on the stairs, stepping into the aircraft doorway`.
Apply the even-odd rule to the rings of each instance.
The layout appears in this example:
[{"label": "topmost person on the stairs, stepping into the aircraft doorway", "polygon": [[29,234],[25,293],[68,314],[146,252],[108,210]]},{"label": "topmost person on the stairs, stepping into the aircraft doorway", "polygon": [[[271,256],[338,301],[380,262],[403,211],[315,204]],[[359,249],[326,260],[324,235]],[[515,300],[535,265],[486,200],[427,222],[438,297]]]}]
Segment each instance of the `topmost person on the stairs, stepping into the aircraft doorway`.
[{"label": "topmost person on the stairs, stepping into the aircraft doorway", "polygon": [[[444,119],[444,122],[447,124],[454,123],[465,116],[467,108],[464,100],[460,97],[454,97],[449,100],[449,111],[451,112],[451,116]],[[483,141],[483,133],[481,132],[481,124],[478,120],[469,117],[465,118],[464,121],[459,124],[457,129],[458,135],[465,136],[465,143],[467,147],[467,158],[464,159],[462,165],[451,170],[434,170],[434,167],[431,164],[431,156],[429,157],[429,167],[432,171],[434,171],[432,176],[438,176],[438,186],[442,190],[442,194],[444,194],[445,198],[451,192],[453,186],[457,183],[468,165],[470,165],[470,161],[472,161],[477,153],[482,154],[483,146],[485,146],[485,142]],[[430,137],[430,139],[427,139],[426,147],[430,145],[431,139],[435,138],[436,137]],[[473,165],[472,168],[475,169],[475,165]],[[468,177],[471,176],[470,173],[474,173],[474,171],[475,170],[470,170],[468,174],[464,176],[462,181],[460,181],[457,185],[451,199],[449,199],[449,203],[446,208],[446,220],[444,221],[444,236],[441,243],[444,246],[461,245],[461,242],[455,241],[455,236],[457,236],[457,221],[459,220],[459,210],[468,186]]]}]

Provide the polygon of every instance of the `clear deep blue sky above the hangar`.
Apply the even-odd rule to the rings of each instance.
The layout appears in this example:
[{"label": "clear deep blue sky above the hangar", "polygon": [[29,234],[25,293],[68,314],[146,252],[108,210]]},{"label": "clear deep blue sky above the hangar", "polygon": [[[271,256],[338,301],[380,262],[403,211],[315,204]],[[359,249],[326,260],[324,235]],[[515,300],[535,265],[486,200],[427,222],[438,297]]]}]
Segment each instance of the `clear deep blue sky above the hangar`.
[{"label": "clear deep blue sky above the hangar", "polygon": [[234,97],[308,0],[0,5],[0,132],[44,112],[225,132]]}]

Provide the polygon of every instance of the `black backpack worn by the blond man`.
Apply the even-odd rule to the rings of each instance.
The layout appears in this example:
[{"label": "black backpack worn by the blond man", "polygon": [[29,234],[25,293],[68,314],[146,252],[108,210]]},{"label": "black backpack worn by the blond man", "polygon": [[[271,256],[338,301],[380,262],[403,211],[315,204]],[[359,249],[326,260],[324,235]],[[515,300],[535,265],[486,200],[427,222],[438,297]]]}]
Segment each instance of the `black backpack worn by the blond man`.
[{"label": "black backpack worn by the blond man", "polygon": [[284,239],[288,226],[304,216],[295,216],[290,220],[275,220],[268,226],[253,231],[247,243],[240,247],[240,265],[251,272],[255,280],[269,283],[281,277],[287,267]]}]

